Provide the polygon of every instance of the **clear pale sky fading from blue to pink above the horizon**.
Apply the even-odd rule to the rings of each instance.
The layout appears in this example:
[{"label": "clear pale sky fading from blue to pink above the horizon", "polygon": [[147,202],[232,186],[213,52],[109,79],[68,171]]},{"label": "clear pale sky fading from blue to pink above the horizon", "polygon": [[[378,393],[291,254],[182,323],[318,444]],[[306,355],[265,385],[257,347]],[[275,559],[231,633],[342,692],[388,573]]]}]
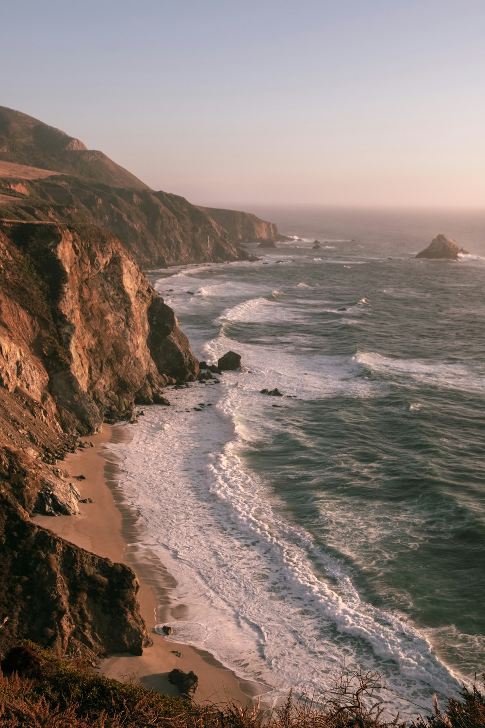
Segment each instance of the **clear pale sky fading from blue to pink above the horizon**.
[{"label": "clear pale sky fading from blue to pink above the horizon", "polygon": [[485,206],[484,0],[0,0],[0,104],[201,205]]}]

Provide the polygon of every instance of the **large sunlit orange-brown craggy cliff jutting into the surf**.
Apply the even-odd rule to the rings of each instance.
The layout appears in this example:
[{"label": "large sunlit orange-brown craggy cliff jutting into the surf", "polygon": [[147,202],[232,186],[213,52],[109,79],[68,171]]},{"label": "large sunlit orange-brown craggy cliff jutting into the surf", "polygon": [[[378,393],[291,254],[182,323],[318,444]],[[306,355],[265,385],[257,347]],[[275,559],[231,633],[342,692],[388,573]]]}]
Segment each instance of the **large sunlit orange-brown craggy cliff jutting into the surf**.
[{"label": "large sunlit orange-brown craggy cliff jutting into the surf", "polygon": [[0,381],[63,430],[93,432],[196,379],[175,314],[110,232],[0,222],[0,262]]}]

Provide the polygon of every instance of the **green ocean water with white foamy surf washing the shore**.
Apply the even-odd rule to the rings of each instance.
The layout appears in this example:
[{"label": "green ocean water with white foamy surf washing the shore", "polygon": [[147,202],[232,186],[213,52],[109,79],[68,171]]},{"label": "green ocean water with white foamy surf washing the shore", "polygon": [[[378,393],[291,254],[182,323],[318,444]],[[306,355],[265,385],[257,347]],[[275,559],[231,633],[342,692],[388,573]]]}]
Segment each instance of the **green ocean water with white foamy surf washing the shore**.
[{"label": "green ocean water with white foamy surf washing the shore", "polygon": [[[174,639],[267,703],[377,670],[405,719],[485,667],[485,213],[255,211],[294,239],[150,274],[244,371],[145,408],[121,486]],[[414,260],[438,232],[470,255]]]}]

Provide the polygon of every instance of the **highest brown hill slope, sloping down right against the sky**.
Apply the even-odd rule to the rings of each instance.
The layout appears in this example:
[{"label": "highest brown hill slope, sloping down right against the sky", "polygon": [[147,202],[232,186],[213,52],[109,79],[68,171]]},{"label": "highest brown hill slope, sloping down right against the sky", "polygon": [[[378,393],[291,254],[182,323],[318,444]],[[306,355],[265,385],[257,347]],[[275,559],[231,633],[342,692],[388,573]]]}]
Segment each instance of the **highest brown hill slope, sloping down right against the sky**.
[{"label": "highest brown hill slope, sloping down right against the sky", "polygon": [[148,189],[135,175],[65,132],[0,106],[0,159],[77,175],[114,187]]}]

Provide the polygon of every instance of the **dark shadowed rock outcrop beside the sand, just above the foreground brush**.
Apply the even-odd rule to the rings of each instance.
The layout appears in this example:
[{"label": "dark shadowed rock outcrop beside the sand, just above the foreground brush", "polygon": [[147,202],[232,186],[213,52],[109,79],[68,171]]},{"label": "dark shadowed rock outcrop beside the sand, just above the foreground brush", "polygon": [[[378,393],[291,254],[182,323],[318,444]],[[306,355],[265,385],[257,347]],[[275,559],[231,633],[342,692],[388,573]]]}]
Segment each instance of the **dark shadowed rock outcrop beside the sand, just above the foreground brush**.
[{"label": "dark shadowed rock outcrop beside the sand, just above the foreground brush", "polygon": [[149,638],[135,574],[36,526],[20,501],[28,506],[37,485],[28,459],[0,448],[1,651],[22,638],[91,659],[140,654]]}]

